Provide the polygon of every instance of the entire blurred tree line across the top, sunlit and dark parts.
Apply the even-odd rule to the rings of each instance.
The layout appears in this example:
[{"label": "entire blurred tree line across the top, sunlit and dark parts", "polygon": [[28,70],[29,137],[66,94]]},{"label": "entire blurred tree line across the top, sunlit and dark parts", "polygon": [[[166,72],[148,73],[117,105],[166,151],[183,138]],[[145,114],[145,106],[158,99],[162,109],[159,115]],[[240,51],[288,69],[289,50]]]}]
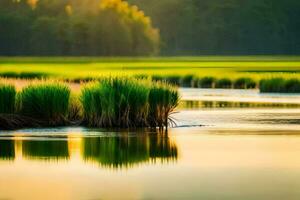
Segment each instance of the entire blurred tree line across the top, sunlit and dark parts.
[{"label": "entire blurred tree line across the top, sunlit and dark parts", "polygon": [[299,55],[299,35],[299,0],[0,0],[0,55]]}]

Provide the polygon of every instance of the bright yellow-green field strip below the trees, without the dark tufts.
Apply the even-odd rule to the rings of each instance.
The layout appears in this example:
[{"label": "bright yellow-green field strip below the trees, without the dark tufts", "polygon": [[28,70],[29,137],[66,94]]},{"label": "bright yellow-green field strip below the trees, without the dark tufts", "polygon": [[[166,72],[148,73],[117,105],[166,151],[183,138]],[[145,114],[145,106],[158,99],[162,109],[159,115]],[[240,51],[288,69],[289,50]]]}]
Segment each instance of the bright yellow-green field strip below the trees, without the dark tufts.
[{"label": "bright yellow-green field strip below the trees, without the dark tufts", "polygon": [[271,77],[300,78],[300,57],[2,57],[1,74],[30,77],[86,78],[108,75],[188,75],[254,80]]}]

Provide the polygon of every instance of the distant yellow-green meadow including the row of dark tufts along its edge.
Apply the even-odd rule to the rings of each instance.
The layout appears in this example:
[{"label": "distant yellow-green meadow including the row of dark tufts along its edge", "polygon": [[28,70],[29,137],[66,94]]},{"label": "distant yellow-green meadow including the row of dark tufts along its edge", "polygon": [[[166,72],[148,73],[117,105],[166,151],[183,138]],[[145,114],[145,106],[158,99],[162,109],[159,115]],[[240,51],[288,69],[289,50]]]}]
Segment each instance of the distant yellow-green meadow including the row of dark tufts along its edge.
[{"label": "distant yellow-green meadow including the row of dark tufts along its edge", "polygon": [[[151,77],[153,80],[195,88],[252,89],[263,84],[263,92],[300,92],[296,81],[300,80],[300,57],[0,58],[0,77],[5,78],[55,78],[86,82],[107,76]],[[269,81],[273,85],[274,80],[279,79],[288,81],[288,87],[274,89],[266,84]]]}]

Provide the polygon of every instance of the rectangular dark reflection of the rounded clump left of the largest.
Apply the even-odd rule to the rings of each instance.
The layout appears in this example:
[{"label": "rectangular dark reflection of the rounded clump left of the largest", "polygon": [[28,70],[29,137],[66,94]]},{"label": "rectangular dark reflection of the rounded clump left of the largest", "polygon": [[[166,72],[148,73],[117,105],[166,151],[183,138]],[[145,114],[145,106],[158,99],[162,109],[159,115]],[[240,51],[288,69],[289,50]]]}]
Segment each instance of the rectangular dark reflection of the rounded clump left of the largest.
[{"label": "rectangular dark reflection of the rounded clump left of the largest", "polygon": [[65,140],[24,140],[23,155],[31,159],[69,159],[68,141]]}]

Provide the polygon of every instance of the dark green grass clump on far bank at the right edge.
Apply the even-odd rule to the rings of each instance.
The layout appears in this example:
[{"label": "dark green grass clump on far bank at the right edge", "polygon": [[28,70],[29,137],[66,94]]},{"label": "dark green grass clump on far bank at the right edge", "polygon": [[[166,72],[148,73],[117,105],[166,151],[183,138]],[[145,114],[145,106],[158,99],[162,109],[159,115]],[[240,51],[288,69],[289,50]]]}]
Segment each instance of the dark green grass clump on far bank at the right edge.
[{"label": "dark green grass clump on far bank at the right edge", "polygon": [[300,80],[283,78],[262,79],[259,87],[262,93],[300,93]]}]

